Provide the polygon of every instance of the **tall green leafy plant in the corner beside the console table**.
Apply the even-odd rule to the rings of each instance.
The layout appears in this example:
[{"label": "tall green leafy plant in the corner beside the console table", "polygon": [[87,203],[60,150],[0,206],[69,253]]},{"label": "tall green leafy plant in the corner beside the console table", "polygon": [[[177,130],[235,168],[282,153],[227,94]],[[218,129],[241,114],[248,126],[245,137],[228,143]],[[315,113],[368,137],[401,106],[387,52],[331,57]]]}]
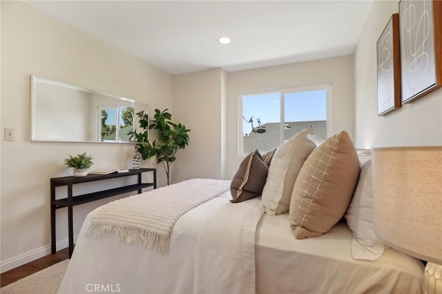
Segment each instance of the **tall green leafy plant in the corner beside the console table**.
[{"label": "tall green leafy plant in the corner beside the console table", "polygon": [[[189,145],[189,133],[191,130],[186,129],[182,124],[175,124],[171,121],[172,115],[167,112],[169,109],[160,111],[155,109],[154,119],[150,120],[148,114],[144,111],[137,112],[138,121],[142,132],[137,133],[136,130],[131,132],[131,141],[138,142],[140,154],[143,159],[149,159],[153,156],[157,157],[157,164],[162,162],[166,171],[167,184],[170,184],[171,164],[176,160],[175,154],[177,150],[184,149]],[[148,130],[157,131],[157,140],[152,143],[148,139]]]}]

